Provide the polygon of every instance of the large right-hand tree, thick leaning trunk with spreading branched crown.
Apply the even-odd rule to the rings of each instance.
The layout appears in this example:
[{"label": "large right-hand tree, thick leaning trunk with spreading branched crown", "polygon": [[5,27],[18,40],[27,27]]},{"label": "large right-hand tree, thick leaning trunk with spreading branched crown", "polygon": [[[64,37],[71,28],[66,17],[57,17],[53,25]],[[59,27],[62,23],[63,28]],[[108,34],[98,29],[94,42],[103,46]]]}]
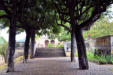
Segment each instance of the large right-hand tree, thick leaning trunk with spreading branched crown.
[{"label": "large right-hand tree, thick leaning trunk with spreading branched crown", "polygon": [[77,42],[79,68],[88,69],[86,47],[82,36],[82,30],[88,29],[112,0],[52,0],[55,5],[61,24],[70,23]]}]

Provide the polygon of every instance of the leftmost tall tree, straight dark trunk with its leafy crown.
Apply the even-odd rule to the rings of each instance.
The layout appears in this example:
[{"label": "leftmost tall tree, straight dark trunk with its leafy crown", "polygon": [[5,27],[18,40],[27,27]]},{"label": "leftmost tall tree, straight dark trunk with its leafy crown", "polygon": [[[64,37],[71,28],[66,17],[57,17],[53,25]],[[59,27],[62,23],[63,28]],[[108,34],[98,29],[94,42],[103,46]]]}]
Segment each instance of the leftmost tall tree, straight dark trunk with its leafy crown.
[{"label": "leftmost tall tree, straight dark trunk with its leafy crown", "polygon": [[0,10],[5,14],[0,15],[0,18],[8,18],[9,20],[9,45],[8,45],[8,70],[14,71],[14,53],[15,53],[15,35],[16,22],[22,16],[23,9],[31,7],[34,0],[0,0]]}]

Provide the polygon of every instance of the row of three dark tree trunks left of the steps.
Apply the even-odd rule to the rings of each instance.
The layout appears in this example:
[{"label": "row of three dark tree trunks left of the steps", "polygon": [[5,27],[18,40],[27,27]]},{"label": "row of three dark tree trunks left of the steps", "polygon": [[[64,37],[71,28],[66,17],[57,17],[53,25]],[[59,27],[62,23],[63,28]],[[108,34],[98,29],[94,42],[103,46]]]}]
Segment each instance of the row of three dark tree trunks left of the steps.
[{"label": "row of three dark tree trunks left of the steps", "polygon": [[[26,31],[26,40],[24,46],[24,62],[27,63],[28,54],[29,54],[29,43],[31,37],[31,57],[34,56],[34,44],[35,44],[35,30],[30,32]],[[15,18],[10,19],[10,28],[9,28],[9,46],[8,46],[8,70],[7,72],[14,71],[14,53],[15,53],[15,36],[16,36],[16,21]]]}]

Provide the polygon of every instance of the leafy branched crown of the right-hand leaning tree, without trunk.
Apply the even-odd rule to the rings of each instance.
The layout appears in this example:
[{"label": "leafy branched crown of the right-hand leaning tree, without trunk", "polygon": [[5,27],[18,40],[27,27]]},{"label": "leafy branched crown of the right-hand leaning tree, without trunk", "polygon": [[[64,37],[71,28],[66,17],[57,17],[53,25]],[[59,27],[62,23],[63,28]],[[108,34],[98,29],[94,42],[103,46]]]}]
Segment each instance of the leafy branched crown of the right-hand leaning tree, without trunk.
[{"label": "leafy branched crown of the right-hand leaning tree, without trunk", "polygon": [[[52,0],[58,12],[60,24],[70,23],[76,28],[88,28],[106,11],[112,0]],[[76,22],[76,23],[75,23]],[[71,29],[71,28],[70,28]]]}]

